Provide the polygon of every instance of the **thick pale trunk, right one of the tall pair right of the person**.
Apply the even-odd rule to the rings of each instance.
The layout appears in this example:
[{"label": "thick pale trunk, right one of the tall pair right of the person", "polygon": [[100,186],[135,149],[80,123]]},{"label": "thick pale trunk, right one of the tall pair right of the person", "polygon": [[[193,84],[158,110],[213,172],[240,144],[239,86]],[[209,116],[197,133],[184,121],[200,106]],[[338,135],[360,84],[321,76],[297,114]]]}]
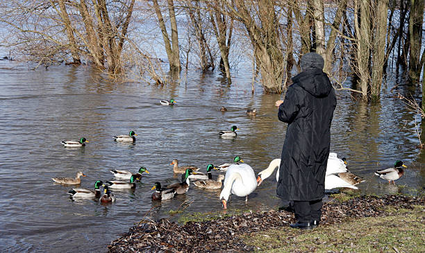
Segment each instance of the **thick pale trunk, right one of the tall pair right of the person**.
[{"label": "thick pale trunk, right one of the tall pair right of the person", "polygon": [[377,101],[381,95],[381,83],[383,80],[383,66],[385,65],[385,37],[387,33],[387,10],[388,0],[376,0],[374,10],[374,40],[372,40],[372,100]]}]

